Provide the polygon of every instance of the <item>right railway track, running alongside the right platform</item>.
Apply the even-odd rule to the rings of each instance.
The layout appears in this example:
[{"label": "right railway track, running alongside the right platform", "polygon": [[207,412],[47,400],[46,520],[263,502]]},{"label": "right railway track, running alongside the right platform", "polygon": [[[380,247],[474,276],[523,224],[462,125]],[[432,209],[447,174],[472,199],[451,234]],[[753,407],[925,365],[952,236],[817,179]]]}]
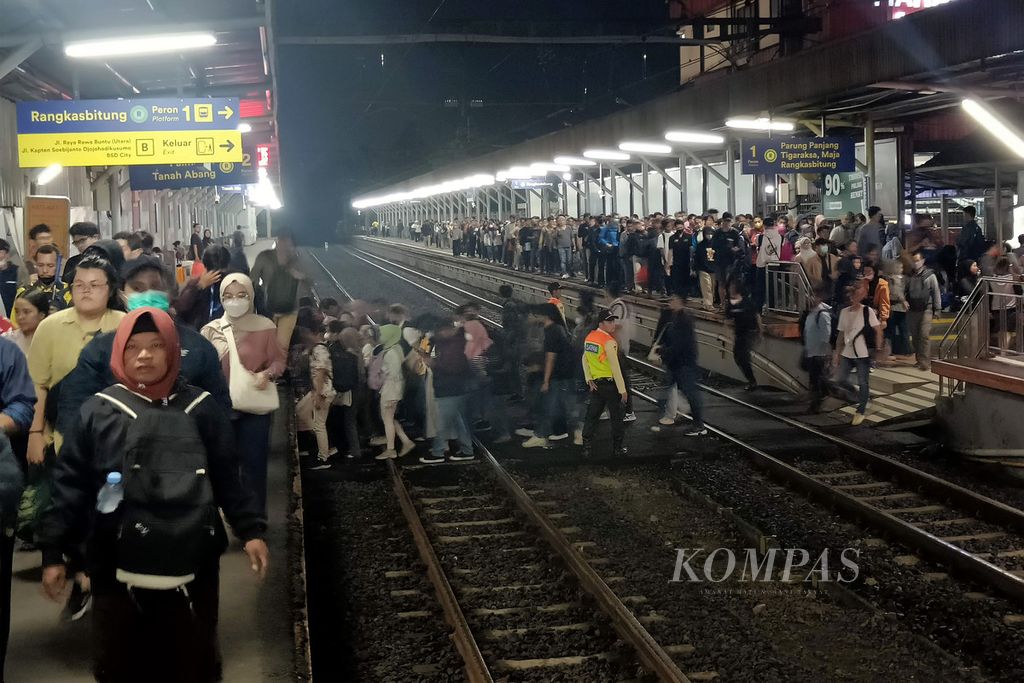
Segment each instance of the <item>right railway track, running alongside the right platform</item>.
[{"label": "right railway track, running alongside the right platform", "polygon": [[[478,292],[418,273],[362,250],[350,253],[449,306],[462,302],[435,288],[500,310],[500,304]],[[542,296],[543,288],[538,285],[535,289]],[[481,318],[500,327],[497,319]],[[631,373],[638,380],[634,395],[663,404],[656,395],[655,379],[662,370],[641,358],[631,356],[630,361]],[[721,389],[700,386],[713,397],[706,407],[709,429],[738,446],[758,467],[899,540],[958,575],[1024,603],[1024,512]],[[740,435],[731,425],[753,426],[756,430]],[[905,561],[911,563],[914,559]]]}]

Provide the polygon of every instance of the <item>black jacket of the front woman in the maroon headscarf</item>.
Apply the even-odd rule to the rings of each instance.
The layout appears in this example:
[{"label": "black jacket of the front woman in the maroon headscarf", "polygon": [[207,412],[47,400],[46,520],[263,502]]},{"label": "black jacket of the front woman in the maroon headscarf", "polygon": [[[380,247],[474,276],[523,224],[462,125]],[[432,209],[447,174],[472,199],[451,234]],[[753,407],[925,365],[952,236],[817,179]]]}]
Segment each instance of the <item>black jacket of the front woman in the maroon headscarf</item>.
[{"label": "black jacket of the front woman in the maroon headscarf", "polygon": [[[187,357],[187,356],[186,356]],[[105,387],[102,387],[105,388]],[[200,389],[180,384],[178,392],[188,392],[199,398]],[[148,400],[148,399],[145,399]],[[77,546],[92,536],[92,510],[96,496],[109,472],[124,468],[124,445],[131,424],[123,411],[106,400],[92,396],[77,411],[79,418],[65,435],[65,444],[53,468],[53,500],[39,521],[37,545],[43,552],[43,565],[59,564],[67,548]],[[214,500],[243,542],[260,538],[266,521],[256,508],[253,492],[242,482],[234,432],[228,429],[227,411],[217,401],[206,397],[193,409],[200,437],[206,446],[210,483]],[[217,533],[226,546],[226,535],[218,524]],[[114,529],[108,529],[113,533]],[[105,546],[113,539],[102,539]],[[111,568],[114,557],[93,557],[94,562]],[[93,567],[95,568],[95,566]]]}]

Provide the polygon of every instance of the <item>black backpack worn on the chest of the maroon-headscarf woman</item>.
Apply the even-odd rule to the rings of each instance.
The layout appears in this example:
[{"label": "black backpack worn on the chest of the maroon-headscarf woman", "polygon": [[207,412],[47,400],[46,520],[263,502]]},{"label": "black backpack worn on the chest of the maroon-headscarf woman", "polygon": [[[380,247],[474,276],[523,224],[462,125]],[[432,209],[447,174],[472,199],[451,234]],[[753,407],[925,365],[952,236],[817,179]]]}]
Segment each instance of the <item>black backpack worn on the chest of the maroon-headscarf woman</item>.
[{"label": "black backpack worn on the chest of the maroon-headscarf woman", "polygon": [[187,387],[169,400],[150,401],[117,384],[96,396],[131,419],[124,498],[112,513],[120,514],[117,580],[147,589],[184,586],[224,545],[206,445],[190,416],[210,394]]}]

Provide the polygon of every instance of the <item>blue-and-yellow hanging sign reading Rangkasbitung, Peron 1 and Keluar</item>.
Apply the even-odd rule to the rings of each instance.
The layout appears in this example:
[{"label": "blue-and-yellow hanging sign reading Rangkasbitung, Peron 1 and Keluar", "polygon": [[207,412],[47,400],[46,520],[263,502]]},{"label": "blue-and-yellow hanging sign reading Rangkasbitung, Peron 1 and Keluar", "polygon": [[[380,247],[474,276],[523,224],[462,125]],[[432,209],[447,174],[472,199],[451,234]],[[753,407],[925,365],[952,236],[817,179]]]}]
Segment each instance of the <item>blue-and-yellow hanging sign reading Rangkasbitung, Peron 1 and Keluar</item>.
[{"label": "blue-and-yellow hanging sign reading Rangkasbitung, Peron 1 and Keluar", "polygon": [[22,168],[242,161],[239,100],[81,99],[17,103]]}]

